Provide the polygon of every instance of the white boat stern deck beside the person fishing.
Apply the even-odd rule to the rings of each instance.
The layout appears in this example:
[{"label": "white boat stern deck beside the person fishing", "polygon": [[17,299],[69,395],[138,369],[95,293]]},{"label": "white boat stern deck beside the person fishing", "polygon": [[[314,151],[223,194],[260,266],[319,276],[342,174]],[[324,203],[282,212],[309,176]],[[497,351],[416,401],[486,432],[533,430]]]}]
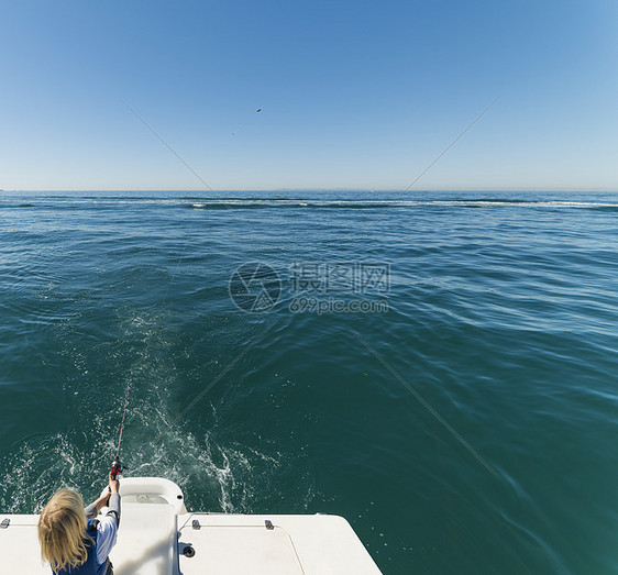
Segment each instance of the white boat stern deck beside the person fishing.
[{"label": "white boat stern deck beside the person fishing", "polygon": [[[379,570],[338,516],[187,512],[165,479],[121,482],[122,518],[110,554],[115,575],[375,575]],[[1,515],[0,573],[49,575],[37,515]],[[36,553],[33,553],[36,550]]]}]

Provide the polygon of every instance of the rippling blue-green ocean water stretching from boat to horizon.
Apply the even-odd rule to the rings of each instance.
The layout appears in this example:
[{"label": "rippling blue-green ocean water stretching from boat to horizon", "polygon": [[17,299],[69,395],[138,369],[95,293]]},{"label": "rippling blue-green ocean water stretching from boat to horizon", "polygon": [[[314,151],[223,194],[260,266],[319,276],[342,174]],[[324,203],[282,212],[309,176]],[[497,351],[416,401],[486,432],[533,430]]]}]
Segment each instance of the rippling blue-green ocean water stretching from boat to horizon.
[{"label": "rippling blue-green ocean water stretching from boat to horizon", "polygon": [[126,475],[189,509],[618,573],[617,237],[608,193],[4,192],[0,511],[98,495],[129,386]]}]

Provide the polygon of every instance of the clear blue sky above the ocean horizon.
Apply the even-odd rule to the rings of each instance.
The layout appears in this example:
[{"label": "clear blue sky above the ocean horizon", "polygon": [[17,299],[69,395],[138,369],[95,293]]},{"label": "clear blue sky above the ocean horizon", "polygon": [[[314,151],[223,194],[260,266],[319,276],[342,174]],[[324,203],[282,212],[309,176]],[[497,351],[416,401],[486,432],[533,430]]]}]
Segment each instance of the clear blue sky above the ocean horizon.
[{"label": "clear blue sky above the ocean horizon", "polygon": [[[617,190],[618,3],[0,3],[0,188]],[[262,108],[262,112],[256,112]]]}]

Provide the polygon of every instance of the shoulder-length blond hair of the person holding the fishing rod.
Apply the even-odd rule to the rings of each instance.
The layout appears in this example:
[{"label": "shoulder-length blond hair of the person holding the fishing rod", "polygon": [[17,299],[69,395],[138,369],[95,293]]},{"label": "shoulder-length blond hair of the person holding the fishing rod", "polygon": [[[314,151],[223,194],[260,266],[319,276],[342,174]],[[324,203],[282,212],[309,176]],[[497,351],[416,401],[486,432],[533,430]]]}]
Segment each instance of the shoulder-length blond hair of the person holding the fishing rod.
[{"label": "shoulder-length blond hair of the person holding the fishing rod", "polygon": [[73,489],[54,494],[38,518],[41,557],[49,562],[52,571],[75,568],[86,563],[86,543],[93,543],[86,533],[87,527],[81,496]]}]

